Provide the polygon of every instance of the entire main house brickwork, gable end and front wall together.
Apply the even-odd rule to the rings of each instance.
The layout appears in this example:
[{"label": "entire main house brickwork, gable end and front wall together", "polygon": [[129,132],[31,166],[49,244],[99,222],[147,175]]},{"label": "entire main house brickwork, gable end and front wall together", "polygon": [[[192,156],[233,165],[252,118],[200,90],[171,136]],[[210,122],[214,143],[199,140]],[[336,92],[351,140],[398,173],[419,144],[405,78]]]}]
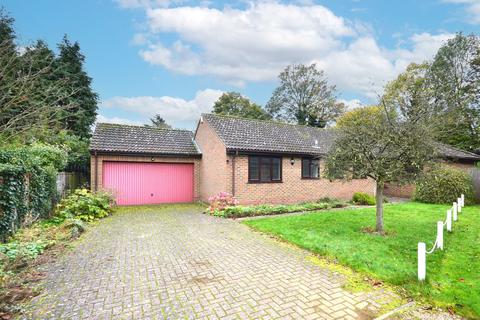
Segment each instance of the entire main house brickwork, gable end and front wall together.
[{"label": "entire main house brickwork, gable end and front wall together", "polygon": [[242,204],[296,203],[323,197],[350,200],[357,191],[375,193],[375,182],[370,179],[348,182],[302,179],[301,158],[295,157],[292,165],[290,156],[282,157],[282,182],[249,183],[248,156],[227,156],[225,145],[206,121],[199,123],[195,141],[202,151],[200,199],[203,201],[221,191],[233,193]]}]

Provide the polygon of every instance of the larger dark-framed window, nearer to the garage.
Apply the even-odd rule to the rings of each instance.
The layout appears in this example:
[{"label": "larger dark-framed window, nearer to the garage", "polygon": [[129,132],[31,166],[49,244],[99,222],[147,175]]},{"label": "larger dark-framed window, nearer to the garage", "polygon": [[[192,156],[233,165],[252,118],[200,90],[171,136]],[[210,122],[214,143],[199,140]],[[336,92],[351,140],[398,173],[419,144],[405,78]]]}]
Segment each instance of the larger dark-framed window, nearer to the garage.
[{"label": "larger dark-framed window, nearer to the garage", "polygon": [[249,182],[281,182],[282,158],[250,156],[248,157]]}]

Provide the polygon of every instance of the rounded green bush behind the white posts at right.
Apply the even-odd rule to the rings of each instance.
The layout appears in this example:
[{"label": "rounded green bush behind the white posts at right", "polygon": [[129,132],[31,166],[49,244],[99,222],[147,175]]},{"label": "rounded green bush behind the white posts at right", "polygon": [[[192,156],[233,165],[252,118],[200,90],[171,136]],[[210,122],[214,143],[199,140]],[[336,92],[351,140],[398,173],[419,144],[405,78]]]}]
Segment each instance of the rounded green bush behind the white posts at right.
[{"label": "rounded green bush behind the white posts at right", "polygon": [[461,194],[465,203],[474,202],[470,175],[450,166],[436,166],[425,172],[415,184],[413,199],[425,203],[452,203]]}]

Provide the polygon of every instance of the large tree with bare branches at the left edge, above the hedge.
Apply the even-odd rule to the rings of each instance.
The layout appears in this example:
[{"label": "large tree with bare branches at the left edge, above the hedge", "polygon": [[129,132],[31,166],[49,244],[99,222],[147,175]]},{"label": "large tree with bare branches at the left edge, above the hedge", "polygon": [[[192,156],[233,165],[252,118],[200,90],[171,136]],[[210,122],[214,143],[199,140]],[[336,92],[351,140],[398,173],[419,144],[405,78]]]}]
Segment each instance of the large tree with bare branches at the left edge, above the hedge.
[{"label": "large tree with bare branches at the left edge, above the hedge", "polygon": [[[0,135],[2,143],[21,139],[26,132],[53,126],[59,117],[58,83],[44,84],[51,72],[51,57],[33,54],[27,49],[21,55],[15,46],[13,19],[0,14]],[[63,97],[68,91],[62,89]],[[66,107],[68,108],[68,106]]]}]

